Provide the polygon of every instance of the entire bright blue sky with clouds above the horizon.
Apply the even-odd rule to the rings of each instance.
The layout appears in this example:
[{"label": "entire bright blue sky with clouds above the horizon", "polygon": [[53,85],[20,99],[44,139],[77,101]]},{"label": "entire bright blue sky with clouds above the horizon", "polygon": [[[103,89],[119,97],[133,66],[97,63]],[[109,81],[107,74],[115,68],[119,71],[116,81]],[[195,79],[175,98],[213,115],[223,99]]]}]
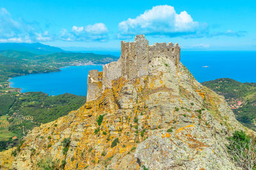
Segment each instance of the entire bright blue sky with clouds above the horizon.
[{"label": "entire bright blue sky with clouds above the horizon", "polygon": [[184,50],[256,50],[256,1],[0,0],[0,43],[119,50],[146,34]]}]

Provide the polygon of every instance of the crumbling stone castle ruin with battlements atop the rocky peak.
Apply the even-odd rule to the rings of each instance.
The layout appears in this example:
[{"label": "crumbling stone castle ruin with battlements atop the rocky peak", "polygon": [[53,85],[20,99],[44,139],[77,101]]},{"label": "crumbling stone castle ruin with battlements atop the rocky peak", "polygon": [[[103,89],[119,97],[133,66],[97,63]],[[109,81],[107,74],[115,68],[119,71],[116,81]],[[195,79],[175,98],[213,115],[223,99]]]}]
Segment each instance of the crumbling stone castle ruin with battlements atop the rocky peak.
[{"label": "crumbling stone castle ruin with battlements atop the rocky peak", "polygon": [[112,80],[124,77],[128,80],[149,74],[148,65],[154,57],[168,57],[179,64],[180,46],[176,43],[148,45],[144,35],[135,36],[134,42],[121,41],[121,57],[103,66],[103,71],[91,70],[88,74],[86,101],[92,101],[111,88]]}]

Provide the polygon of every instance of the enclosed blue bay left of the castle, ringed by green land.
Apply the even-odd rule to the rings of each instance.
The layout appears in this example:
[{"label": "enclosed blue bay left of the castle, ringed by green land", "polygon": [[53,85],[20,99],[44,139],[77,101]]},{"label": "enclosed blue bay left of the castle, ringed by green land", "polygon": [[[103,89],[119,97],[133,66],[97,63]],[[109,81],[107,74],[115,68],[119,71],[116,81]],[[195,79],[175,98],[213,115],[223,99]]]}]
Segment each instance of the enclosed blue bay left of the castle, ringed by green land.
[{"label": "enclosed blue bay left of the castle, ringed by green land", "polygon": [[21,88],[21,92],[44,92],[50,96],[76,94],[86,96],[87,76],[91,69],[102,71],[102,66],[70,66],[59,72],[29,74],[10,79],[11,87]]}]

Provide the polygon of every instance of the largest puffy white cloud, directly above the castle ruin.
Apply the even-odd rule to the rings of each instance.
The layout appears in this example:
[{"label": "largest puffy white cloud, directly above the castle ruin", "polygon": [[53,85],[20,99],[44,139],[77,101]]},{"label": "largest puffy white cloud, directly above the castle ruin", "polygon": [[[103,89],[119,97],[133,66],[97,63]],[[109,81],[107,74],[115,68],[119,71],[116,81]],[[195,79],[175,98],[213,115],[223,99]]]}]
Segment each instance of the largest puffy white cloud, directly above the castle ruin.
[{"label": "largest puffy white cloud, directly above the castle ruin", "polygon": [[198,31],[199,23],[186,12],[176,13],[173,6],[154,6],[136,18],[128,18],[120,22],[118,29],[122,35],[127,34],[191,34]]}]

